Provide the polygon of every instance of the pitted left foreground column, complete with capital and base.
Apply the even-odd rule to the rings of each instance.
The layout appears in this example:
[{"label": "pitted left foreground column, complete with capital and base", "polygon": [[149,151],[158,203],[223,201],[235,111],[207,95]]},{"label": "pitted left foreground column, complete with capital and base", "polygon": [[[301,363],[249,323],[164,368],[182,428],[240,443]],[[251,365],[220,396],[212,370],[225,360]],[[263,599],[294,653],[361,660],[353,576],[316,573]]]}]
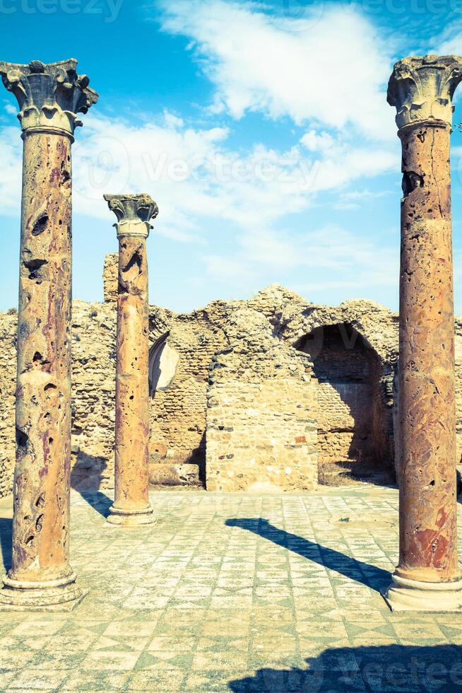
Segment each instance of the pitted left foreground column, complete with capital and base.
[{"label": "pitted left foreground column, complete with capital and base", "polygon": [[0,63],[18,99],[23,198],[12,566],[0,608],[69,610],[71,460],[71,143],[97,94],[76,60]]}]

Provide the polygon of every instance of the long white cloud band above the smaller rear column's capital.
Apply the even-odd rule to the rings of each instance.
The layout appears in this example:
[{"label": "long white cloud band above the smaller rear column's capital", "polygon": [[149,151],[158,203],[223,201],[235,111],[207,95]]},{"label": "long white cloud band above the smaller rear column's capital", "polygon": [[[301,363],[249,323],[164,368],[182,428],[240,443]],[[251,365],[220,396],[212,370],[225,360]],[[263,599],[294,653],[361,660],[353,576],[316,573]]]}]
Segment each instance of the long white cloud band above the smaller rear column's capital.
[{"label": "long white cloud band above the smaller rear column's capital", "polygon": [[[225,128],[193,128],[165,113],[155,124],[126,124],[88,114],[73,145],[73,202],[77,213],[107,219],[105,192],[148,192],[158,201],[160,233],[198,240],[206,219],[253,231],[306,210],[321,192],[396,168],[390,148],[361,148],[309,132],[316,151],[254,145],[247,154],[227,146]],[[20,206],[22,151],[18,128],[0,128],[0,212]]]}]

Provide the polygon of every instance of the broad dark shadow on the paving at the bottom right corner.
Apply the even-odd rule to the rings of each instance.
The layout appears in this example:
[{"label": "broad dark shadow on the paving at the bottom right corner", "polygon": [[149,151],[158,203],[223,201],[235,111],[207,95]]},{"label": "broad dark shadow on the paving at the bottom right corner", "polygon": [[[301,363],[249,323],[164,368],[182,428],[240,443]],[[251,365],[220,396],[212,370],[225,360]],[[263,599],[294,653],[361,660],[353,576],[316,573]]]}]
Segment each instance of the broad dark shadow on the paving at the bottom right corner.
[{"label": "broad dark shadow on the paving at the bottom right corner", "polygon": [[462,648],[457,645],[379,645],[327,648],[309,668],[263,668],[228,683],[234,693],[377,691],[420,693],[462,690]]}]

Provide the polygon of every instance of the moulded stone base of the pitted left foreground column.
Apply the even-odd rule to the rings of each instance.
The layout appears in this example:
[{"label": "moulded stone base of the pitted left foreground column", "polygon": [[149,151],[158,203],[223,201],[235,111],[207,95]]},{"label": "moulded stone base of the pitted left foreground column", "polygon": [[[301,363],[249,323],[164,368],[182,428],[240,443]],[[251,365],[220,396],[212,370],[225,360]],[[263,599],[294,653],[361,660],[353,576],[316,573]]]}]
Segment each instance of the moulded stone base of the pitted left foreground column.
[{"label": "moulded stone base of the pitted left foreground column", "polygon": [[5,576],[0,611],[72,611],[88,594],[88,590],[77,586],[76,577],[72,573],[62,580],[25,582]]}]

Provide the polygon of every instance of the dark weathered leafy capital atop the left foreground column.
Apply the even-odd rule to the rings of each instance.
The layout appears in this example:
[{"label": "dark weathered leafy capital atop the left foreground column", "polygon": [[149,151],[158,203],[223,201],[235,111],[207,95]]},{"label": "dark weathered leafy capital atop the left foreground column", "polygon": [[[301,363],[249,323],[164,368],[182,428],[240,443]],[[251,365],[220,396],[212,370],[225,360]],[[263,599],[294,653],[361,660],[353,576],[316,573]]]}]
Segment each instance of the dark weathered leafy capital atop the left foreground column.
[{"label": "dark weathered leafy capital atop the left foreground column", "polygon": [[78,113],[86,113],[98,95],[90,89],[89,78],[76,73],[77,61],[44,64],[32,60],[28,65],[0,62],[4,86],[19,104],[18,119],[23,130],[46,127],[73,134]]}]

